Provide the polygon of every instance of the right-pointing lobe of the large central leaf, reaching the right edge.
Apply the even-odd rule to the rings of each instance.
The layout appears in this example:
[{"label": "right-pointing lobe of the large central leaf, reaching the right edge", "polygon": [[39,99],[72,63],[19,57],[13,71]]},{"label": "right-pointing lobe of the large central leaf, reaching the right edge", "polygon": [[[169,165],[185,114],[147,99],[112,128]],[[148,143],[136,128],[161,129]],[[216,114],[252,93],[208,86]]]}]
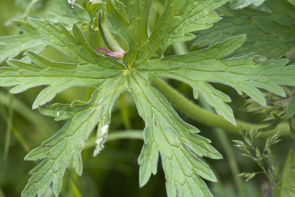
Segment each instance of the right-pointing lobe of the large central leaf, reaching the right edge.
[{"label": "right-pointing lobe of the large central leaf, reaching the right edge", "polygon": [[[283,89],[277,84],[294,85],[295,76],[294,66],[285,67],[289,62],[288,59],[270,60],[258,65],[253,62],[253,59],[256,59],[253,53],[232,59],[222,59],[240,47],[244,40],[245,35],[236,36],[222,43],[216,43],[208,49],[190,54],[148,60],[146,66],[141,65],[136,69],[141,70],[140,75],[148,78],[169,77],[191,85],[195,98],[198,98],[200,92],[218,114],[235,124],[232,110],[225,103],[230,102],[230,98],[213,88],[208,82],[230,85],[238,93],[244,92],[265,106],[266,101],[256,87],[285,96]],[[239,65],[238,62],[241,64]],[[283,82],[284,80],[286,81]]]}]

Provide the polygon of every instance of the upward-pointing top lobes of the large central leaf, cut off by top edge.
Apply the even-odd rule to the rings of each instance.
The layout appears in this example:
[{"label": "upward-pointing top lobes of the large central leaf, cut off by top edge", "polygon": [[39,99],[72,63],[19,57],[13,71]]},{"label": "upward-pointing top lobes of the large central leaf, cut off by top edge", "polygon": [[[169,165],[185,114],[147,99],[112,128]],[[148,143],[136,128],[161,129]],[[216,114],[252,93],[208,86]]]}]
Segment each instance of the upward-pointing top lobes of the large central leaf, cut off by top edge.
[{"label": "upward-pointing top lobes of the large central leaf, cut off by top edge", "polygon": [[222,14],[211,12],[226,1],[166,1],[164,11],[148,37],[148,18],[152,1],[124,1],[128,20],[107,0],[106,17],[113,25],[113,33],[124,38],[129,46],[123,62],[136,67],[147,59],[160,58],[165,49],[173,43],[194,38],[192,31],[212,27],[213,22],[222,19]]}]

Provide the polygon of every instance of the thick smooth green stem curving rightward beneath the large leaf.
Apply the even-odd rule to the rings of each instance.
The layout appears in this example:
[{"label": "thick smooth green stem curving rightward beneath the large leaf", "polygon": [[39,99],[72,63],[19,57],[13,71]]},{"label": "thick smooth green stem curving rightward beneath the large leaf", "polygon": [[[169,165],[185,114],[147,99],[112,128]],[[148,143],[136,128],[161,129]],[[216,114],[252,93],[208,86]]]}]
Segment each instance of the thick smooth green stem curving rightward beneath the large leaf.
[{"label": "thick smooth green stem curving rightward beneath the large leaf", "polygon": [[[162,80],[154,79],[153,85],[165,96],[165,98],[167,98],[167,100],[172,104],[172,106],[176,110],[179,110],[185,113],[191,119],[196,120],[197,122],[200,122],[201,124],[207,125],[209,127],[218,127],[218,128],[224,129],[225,131],[229,133],[238,134],[237,130],[240,129],[241,125],[249,131],[251,127],[253,128],[258,127],[258,129],[261,129],[268,126],[267,124],[254,124],[254,123],[243,122],[240,120],[236,120],[237,126],[232,125],[230,122],[228,122],[227,120],[225,120],[223,117],[219,116],[218,114],[209,112],[199,107],[198,105],[194,104],[189,99],[186,99],[178,91],[173,89],[171,86],[169,86]],[[281,135],[285,135],[285,136],[290,135],[288,123],[282,122],[276,127],[276,129],[263,132],[260,134],[260,136],[268,137],[270,135],[275,134],[278,130],[280,130]]]}]

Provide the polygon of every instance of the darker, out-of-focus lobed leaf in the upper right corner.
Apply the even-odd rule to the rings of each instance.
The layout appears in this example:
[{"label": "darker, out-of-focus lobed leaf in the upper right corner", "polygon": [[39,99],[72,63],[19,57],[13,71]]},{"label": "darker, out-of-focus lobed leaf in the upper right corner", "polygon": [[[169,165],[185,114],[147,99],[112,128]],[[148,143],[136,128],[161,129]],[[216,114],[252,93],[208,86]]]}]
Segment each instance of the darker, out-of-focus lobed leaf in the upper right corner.
[{"label": "darker, out-of-focus lobed leaf in the upper right corner", "polygon": [[245,44],[229,56],[247,55],[255,51],[268,59],[278,59],[295,46],[295,7],[286,0],[280,3],[269,0],[265,2],[265,6],[270,12],[253,8],[234,11],[226,5],[222,6],[218,12],[225,14],[224,19],[217,22],[213,29],[196,33],[196,39],[191,45],[211,46],[228,37],[245,33]]}]

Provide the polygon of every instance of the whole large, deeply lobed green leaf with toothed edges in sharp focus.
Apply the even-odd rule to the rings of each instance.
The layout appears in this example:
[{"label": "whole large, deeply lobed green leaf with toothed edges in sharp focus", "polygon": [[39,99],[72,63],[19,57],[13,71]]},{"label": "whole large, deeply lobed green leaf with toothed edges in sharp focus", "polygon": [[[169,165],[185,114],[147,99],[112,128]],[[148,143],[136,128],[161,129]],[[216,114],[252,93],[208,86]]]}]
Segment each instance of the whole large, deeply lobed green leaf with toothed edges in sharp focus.
[{"label": "whole large, deeply lobed green leaf with toothed edges in sharp focus", "polygon": [[[223,83],[238,93],[248,94],[258,103],[266,101],[257,88],[264,88],[285,96],[277,84],[295,85],[295,65],[285,66],[288,60],[269,60],[255,64],[252,53],[224,59],[238,49],[246,36],[229,38],[208,49],[189,54],[161,58],[165,49],[176,42],[194,38],[190,32],[209,28],[222,14],[211,12],[227,0],[172,1],[167,0],[160,20],[148,36],[148,18],[152,1],[125,0],[127,19],[107,1],[106,17],[113,27],[109,29],[126,39],[129,51],[123,62],[97,54],[86,43],[78,25],[72,34],[61,23],[52,23],[28,17],[30,24],[42,35],[42,41],[61,51],[73,64],[50,61],[26,50],[32,63],[8,60],[10,67],[0,70],[0,86],[15,86],[12,93],[39,85],[48,85],[37,96],[32,108],[68,122],[52,138],[30,152],[25,160],[42,160],[31,171],[32,177],[22,196],[41,196],[53,183],[53,192],[60,192],[62,176],[73,158],[73,167],[81,175],[81,151],[91,130],[98,125],[94,156],[104,147],[110,112],[120,93],[130,91],[138,112],[145,121],[144,146],[138,159],[140,186],[151,174],[156,174],[159,153],[166,177],[167,194],[173,196],[212,196],[202,178],[217,181],[208,165],[200,160],[206,156],[222,156],[176,114],[163,96],[150,84],[155,77],[181,80],[193,87],[195,98],[201,93],[217,113],[235,124],[232,109],[226,104],[230,98],[210,83]],[[97,90],[87,102],[43,106],[54,96],[72,86],[91,86]]]}]

